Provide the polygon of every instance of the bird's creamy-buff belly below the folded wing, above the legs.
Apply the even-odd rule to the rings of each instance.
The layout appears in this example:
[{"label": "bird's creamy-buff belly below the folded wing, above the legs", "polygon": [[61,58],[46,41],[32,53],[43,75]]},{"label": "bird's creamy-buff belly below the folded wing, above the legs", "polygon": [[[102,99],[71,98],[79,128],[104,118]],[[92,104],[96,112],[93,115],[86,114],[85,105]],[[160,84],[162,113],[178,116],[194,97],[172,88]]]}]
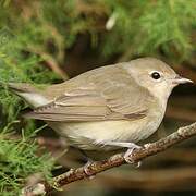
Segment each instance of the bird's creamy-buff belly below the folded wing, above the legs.
[{"label": "bird's creamy-buff belly below the folded wing, above the legs", "polygon": [[149,137],[160,122],[149,122],[146,118],[136,121],[100,121],[49,123],[71,146],[84,150],[114,150],[117,146],[105,142],[137,143]]}]

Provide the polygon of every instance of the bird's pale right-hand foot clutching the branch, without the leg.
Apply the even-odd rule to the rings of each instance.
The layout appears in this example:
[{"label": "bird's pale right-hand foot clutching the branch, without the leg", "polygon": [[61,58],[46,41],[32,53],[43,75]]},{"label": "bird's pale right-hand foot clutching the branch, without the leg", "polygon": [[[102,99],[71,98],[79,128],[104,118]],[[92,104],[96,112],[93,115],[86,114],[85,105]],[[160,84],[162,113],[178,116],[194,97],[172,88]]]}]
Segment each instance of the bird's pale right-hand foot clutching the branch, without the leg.
[{"label": "bird's pale right-hand foot clutching the branch, without the leg", "polygon": [[132,158],[133,151],[135,149],[140,149],[142,147],[134,144],[134,143],[130,143],[130,147],[127,149],[127,151],[124,154],[124,160],[128,163],[128,164],[135,164],[136,163],[136,168],[139,168],[142,164],[142,161],[135,162]]}]

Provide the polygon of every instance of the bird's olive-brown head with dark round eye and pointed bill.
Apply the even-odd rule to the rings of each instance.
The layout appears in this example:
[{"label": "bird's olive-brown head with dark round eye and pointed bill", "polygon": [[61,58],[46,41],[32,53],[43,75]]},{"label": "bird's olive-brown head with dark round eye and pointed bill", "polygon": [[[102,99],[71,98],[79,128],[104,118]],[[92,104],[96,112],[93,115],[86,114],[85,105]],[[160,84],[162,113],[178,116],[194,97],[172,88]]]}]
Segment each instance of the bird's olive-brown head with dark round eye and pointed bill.
[{"label": "bird's olive-brown head with dark round eye and pointed bill", "polygon": [[126,70],[132,77],[160,99],[168,99],[172,89],[179,84],[193,83],[188,78],[181,77],[168,64],[155,58],[140,58],[127,64]]}]

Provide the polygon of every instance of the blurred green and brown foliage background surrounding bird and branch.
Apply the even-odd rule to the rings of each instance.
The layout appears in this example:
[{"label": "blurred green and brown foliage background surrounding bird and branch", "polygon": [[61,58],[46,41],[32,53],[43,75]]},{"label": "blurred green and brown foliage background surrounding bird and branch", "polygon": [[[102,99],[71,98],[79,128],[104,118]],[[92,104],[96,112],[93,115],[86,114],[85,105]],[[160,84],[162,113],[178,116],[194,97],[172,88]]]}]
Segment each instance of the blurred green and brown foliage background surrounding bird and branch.
[{"label": "blurred green and brown foliage background surrounding bird and branch", "polygon": [[[58,137],[42,122],[26,121],[27,106],[7,82],[54,84],[106,64],[156,57],[196,82],[196,0],[0,0],[0,195],[20,195],[34,173],[65,170],[62,151],[39,142]],[[172,93],[159,131],[149,140],[196,121],[196,88]],[[35,139],[39,138],[39,139]],[[40,154],[40,151],[44,151]],[[51,173],[52,171],[52,173]],[[58,195],[196,195],[196,138]]]}]

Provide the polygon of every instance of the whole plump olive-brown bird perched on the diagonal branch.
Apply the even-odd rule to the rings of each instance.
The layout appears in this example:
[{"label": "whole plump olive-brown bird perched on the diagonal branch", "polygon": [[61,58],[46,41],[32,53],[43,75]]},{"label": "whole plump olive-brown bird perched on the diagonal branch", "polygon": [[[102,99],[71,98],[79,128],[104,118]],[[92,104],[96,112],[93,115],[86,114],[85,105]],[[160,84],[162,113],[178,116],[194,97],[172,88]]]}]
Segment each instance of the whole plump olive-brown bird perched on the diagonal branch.
[{"label": "whole plump olive-brown bird perched on the diagonal branch", "polygon": [[173,87],[189,82],[158,59],[140,58],[88,71],[45,90],[29,84],[9,86],[34,108],[26,117],[46,121],[68,146],[128,148],[128,161],[136,143],[159,127]]}]

